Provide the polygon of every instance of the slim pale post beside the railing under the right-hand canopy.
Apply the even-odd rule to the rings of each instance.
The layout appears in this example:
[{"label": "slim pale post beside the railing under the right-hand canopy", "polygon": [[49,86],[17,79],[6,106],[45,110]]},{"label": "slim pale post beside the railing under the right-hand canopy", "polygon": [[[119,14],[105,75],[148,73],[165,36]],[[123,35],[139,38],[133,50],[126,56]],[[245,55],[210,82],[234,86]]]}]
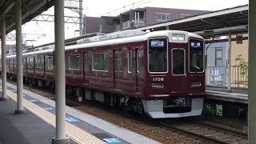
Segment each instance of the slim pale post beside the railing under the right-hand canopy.
[{"label": "slim pale post beside the railing under the right-hand canopy", "polygon": [[228,48],[228,65],[227,65],[227,89],[231,92],[231,33],[229,34],[229,48]]}]

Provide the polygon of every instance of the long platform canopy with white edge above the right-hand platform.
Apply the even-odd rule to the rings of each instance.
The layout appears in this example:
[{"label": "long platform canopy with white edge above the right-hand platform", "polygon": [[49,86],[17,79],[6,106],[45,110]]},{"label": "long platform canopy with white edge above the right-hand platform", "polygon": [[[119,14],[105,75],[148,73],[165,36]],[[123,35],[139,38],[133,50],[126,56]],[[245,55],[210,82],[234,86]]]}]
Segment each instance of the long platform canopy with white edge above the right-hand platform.
[{"label": "long platform canopy with white edge above the right-hand platform", "polygon": [[170,22],[162,22],[151,26],[143,26],[138,30],[185,30],[208,38],[214,35],[248,32],[249,6],[237,6],[225,10],[198,14]]}]

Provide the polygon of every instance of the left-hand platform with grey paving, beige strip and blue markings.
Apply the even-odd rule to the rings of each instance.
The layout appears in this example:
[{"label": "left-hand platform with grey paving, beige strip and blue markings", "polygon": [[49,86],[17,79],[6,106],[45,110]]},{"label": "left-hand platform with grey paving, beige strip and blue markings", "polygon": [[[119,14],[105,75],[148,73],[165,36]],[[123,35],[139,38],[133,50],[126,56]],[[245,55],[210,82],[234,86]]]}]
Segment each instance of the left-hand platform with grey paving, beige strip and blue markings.
[{"label": "left-hand platform with grey paving, beige strip and blue markings", "polygon": [[[0,144],[51,143],[55,137],[54,100],[24,90],[27,114],[14,114],[15,93],[16,86],[8,83],[6,94],[10,100],[0,102]],[[66,106],[66,134],[70,143],[160,143],[70,106]]]}]

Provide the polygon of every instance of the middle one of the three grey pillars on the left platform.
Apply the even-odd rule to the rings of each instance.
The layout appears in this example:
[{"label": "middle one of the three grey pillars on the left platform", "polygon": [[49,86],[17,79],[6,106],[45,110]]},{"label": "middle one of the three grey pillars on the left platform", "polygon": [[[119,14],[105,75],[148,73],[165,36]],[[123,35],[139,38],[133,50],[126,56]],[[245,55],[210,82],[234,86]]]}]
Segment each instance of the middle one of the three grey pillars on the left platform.
[{"label": "middle one of the three grey pillars on the left platform", "polygon": [[15,0],[16,21],[16,61],[17,61],[17,110],[15,114],[26,114],[23,107],[23,74],[22,74],[22,2]]}]

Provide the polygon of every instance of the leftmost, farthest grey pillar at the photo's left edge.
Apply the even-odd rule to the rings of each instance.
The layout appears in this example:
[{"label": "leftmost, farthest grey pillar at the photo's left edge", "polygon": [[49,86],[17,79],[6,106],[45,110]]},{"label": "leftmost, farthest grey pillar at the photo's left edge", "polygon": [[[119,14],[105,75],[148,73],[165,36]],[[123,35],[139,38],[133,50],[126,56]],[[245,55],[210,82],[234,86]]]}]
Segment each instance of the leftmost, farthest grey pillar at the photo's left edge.
[{"label": "leftmost, farthest grey pillar at the photo's left edge", "polygon": [[6,16],[1,18],[1,44],[2,44],[2,97],[0,101],[8,101],[6,96]]}]

